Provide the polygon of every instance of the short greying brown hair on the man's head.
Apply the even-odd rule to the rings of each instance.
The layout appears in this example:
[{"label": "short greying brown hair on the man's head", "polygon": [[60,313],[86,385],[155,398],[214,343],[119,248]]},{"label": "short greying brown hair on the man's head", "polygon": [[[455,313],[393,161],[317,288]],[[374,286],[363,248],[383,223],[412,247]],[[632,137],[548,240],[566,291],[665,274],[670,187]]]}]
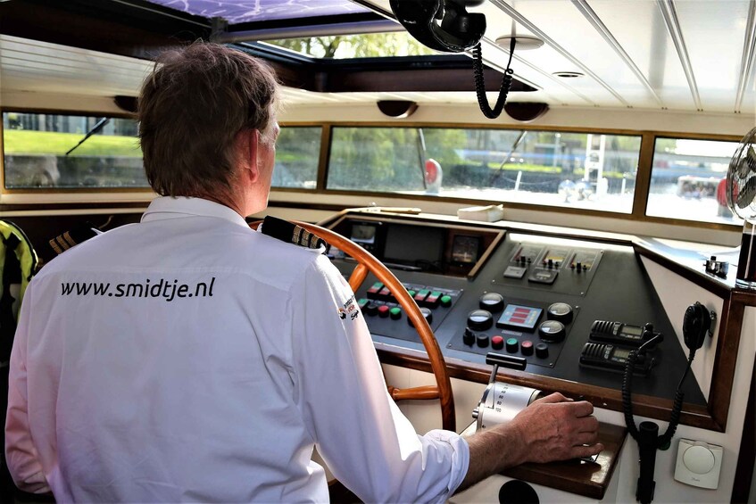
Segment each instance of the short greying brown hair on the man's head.
[{"label": "short greying brown hair on the man's head", "polygon": [[163,53],[138,103],[145,171],[155,193],[202,196],[231,188],[243,129],[270,140],[278,82],[249,54],[195,43]]}]

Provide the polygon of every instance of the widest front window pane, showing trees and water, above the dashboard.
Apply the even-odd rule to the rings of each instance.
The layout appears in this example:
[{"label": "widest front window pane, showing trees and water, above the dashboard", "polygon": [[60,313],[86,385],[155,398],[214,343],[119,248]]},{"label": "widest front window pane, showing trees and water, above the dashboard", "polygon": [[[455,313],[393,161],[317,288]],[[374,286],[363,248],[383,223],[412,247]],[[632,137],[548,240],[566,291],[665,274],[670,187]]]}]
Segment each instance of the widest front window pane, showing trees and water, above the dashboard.
[{"label": "widest front window pane, showing trees and water, above the dashboard", "polygon": [[332,138],[328,189],[620,213],[633,207],[640,136],[336,127]]}]

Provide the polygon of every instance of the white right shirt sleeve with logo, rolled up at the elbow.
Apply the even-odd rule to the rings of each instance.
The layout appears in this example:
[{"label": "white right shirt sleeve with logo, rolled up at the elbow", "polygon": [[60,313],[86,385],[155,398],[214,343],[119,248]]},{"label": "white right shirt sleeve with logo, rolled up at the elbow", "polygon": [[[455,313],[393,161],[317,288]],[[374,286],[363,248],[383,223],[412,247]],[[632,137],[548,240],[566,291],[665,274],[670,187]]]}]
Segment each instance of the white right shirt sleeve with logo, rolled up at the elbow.
[{"label": "white right shirt sleeve with logo, rolled up at the elbow", "polygon": [[467,474],[469,447],[449,431],[415,432],[386,391],[353,292],[325,256],[295,298],[295,388],[328,467],[365,501],[443,502]]}]

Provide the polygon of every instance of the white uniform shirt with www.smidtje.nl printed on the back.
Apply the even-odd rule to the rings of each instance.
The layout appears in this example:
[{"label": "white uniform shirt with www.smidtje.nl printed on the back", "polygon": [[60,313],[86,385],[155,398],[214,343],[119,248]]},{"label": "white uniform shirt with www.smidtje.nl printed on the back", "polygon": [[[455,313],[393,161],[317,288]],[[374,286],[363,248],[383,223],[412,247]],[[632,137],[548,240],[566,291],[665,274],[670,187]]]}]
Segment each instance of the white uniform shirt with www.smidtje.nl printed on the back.
[{"label": "white uniform shirt with www.smidtje.nl printed on the back", "polygon": [[51,261],[13,345],[15,481],[77,501],[439,501],[457,434],[420,436],[386,392],[328,259],[214,202],[158,198],[142,222]]}]

